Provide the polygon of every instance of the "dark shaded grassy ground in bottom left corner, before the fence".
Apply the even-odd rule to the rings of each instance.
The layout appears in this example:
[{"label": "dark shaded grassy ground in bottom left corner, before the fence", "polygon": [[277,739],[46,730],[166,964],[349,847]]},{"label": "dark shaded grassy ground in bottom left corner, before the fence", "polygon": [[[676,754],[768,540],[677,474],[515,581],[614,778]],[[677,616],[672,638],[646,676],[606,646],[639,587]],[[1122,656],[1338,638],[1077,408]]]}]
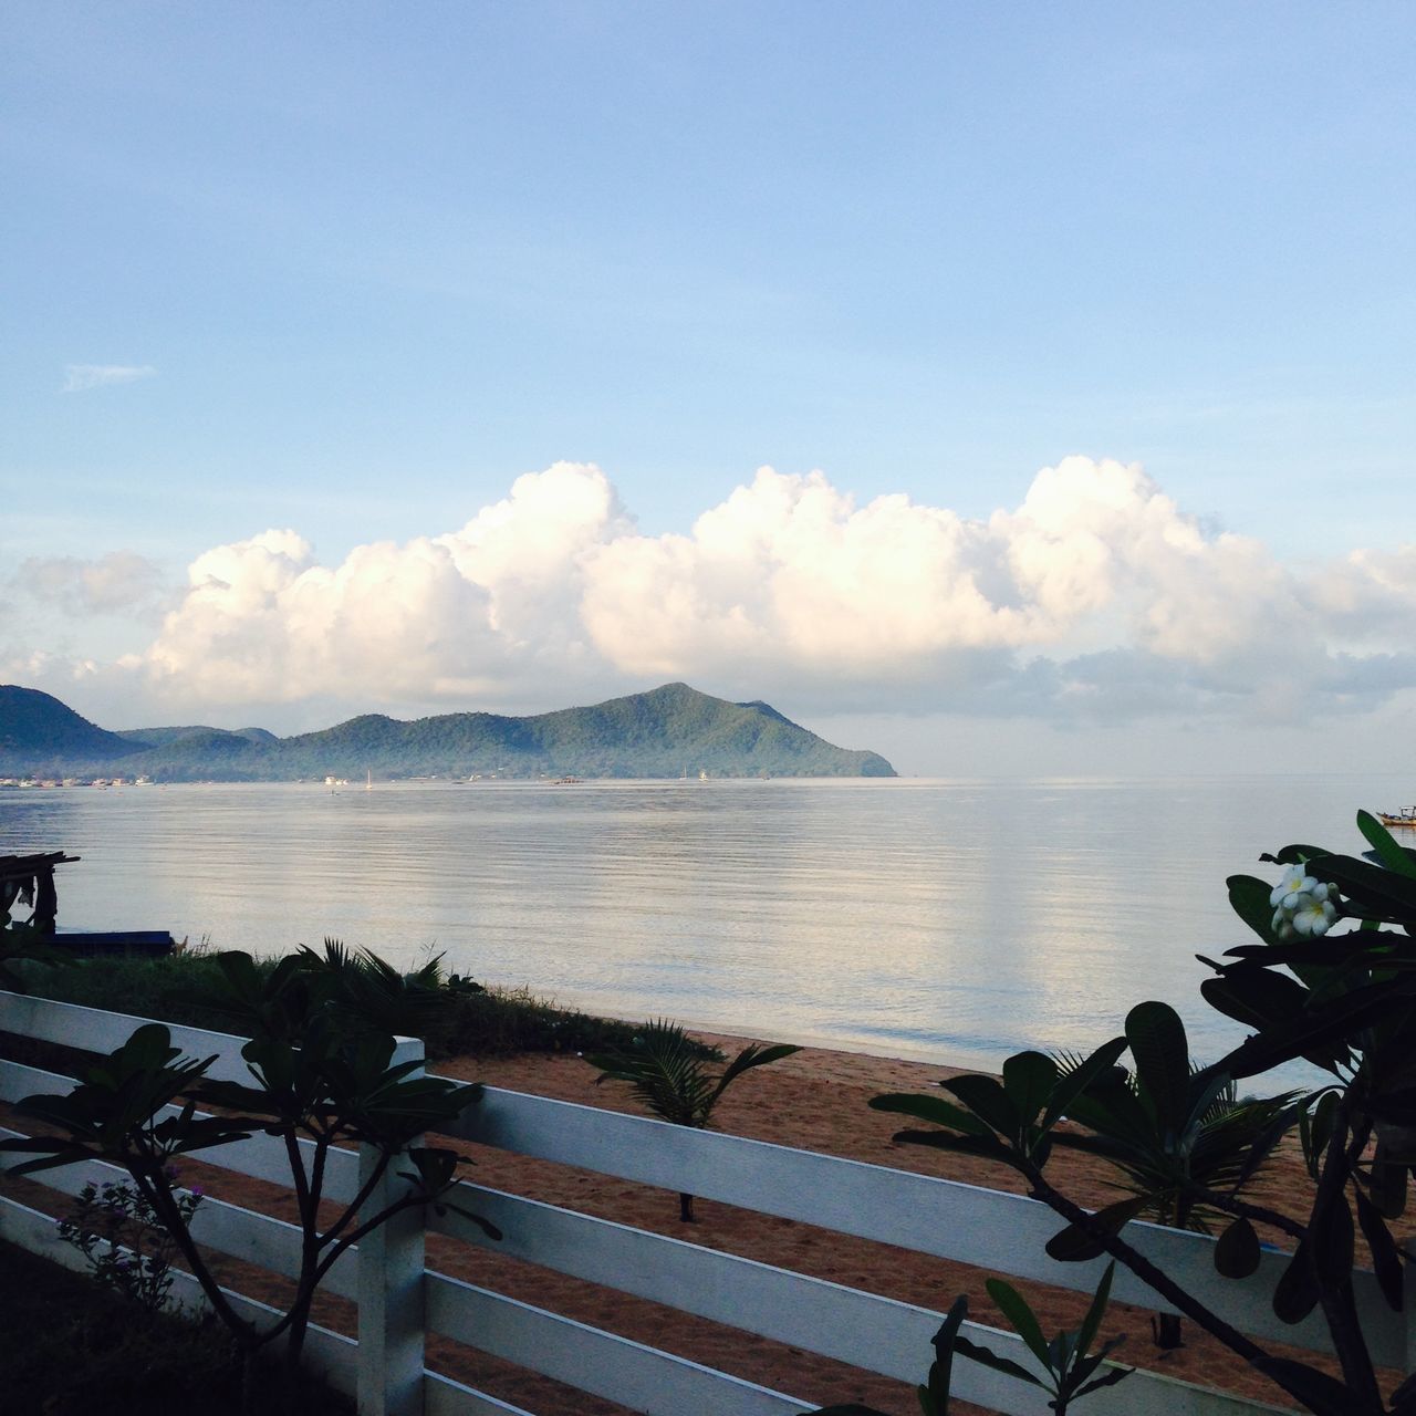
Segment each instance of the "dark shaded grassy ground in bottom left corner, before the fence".
[{"label": "dark shaded grassy ground in bottom left corner, before the fence", "polygon": [[[241,1416],[241,1372],[219,1325],[147,1317],[86,1274],[0,1242],[0,1358],[7,1416]],[[275,1375],[258,1371],[263,1410],[279,1410]],[[266,1391],[265,1388],[269,1388]],[[353,1416],[316,1382],[304,1416]]]}]

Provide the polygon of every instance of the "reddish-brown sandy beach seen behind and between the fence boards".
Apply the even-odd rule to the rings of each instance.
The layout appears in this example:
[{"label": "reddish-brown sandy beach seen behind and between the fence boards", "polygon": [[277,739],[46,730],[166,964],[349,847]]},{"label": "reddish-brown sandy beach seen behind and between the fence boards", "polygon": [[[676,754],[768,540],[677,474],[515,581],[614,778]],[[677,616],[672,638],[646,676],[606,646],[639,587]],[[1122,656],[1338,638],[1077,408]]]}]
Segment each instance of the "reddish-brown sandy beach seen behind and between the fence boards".
[{"label": "reddish-brown sandy beach seen behind and between the fence boards", "polygon": [[[770,1041],[702,1032],[698,1035],[719,1045],[729,1056],[746,1041]],[[490,1061],[460,1058],[436,1063],[433,1070],[585,1106],[630,1113],[637,1110],[626,1087],[615,1083],[596,1086],[595,1069],[576,1055],[521,1055]],[[881,1092],[930,1090],[947,1075],[949,1068],[925,1062],[804,1048],[742,1078],[719,1103],[715,1123],[719,1130],[758,1140],[1020,1191],[1018,1177],[1008,1170],[973,1157],[895,1144],[891,1136],[898,1129],[896,1119],[867,1106]],[[530,1195],[940,1311],[959,1293],[967,1293],[971,1318],[1005,1325],[984,1290],[988,1273],[977,1269],[702,1199],[698,1201],[698,1222],[685,1225],[678,1218],[675,1197],[666,1191],[487,1147],[459,1144],[474,1158],[469,1178],[497,1189]],[[1114,1198],[1114,1192],[1107,1189],[1104,1171],[1085,1158],[1063,1151],[1056,1155],[1054,1165],[1059,1177],[1066,1177],[1066,1188],[1087,1204],[1100,1205]],[[1280,1197],[1286,1187],[1297,1181],[1296,1167],[1294,1158],[1280,1161],[1260,1187],[1266,1198]],[[200,1170],[204,1172],[202,1181],[222,1198],[273,1214],[283,1208],[280,1194],[269,1185],[234,1181],[229,1175],[205,1167]],[[24,1189],[31,1191],[33,1187],[25,1185]],[[915,1395],[903,1383],[535,1269],[501,1257],[494,1249],[474,1249],[430,1236],[429,1266],[790,1392],[809,1402],[867,1402],[891,1416],[915,1416],[918,1412]],[[238,1266],[229,1267],[236,1287],[255,1291],[256,1296],[275,1296],[278,1286],[272,1280],[261,1277],[253,1289],[252,1270],[238,1272]],[[1086,1306],[1085,1296],[1048,1290],[1034,1283],[1020,1283],[1020,1287],[1042,1315],[1044,1325],[1052,1330],[1075,1325]],[[319,1321],[348,1328],[350,1318],[348,1304],[321,1300]],[[1185,1347],[1163,1352],[1151,1341],[1150,1314],[1123,1304],[1113,1304],[1104,1328],[1107,1335],[1126,1334],[1119,1357],[1127,1362],[1287,1405],[1276,1388],[1195,1330],[1192,1323],[1187,1323],[1185,1330]],[[920,1375],[927,1366],[927,1352],[920,1354]],[[622,1410],[610,1402],[439,1340],[430,1344],[429,1365],[541,1416],[619,1416]],[[957,1410],[960,1416],[976,1416],[978,1408],[959,1403]]]}]

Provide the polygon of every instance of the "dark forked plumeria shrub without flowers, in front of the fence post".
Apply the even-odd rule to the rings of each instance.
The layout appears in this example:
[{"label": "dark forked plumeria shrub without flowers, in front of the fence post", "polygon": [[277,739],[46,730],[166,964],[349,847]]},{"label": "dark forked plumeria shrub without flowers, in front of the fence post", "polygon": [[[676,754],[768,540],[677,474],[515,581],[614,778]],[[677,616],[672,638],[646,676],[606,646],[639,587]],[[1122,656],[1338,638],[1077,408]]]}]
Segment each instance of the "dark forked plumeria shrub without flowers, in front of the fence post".
[{"label": "dark forked plumeria shrub without flowers, in front of the fence post", "polygon": [[[395,1215],[447,1204],[463,1157],[421,1138],[457,1117],[481,1092],[423,1076],[421,1061],[395,1062],[394,1037],[348,1011],[346,963],[306,952],[262,971],[248,954],[217,956],[224,1005],[241,1011],[252,1032],[242,1049],[251,1082],[210,1078],[214,1058],[181,1056],[163,1024],[146,1024],[86,1068],[71,1092],[17,1103],[16,1112],[40,1123],[45,1134],[0,1141],[3,1151],[25,1153],[11,1167],[17,1175],[78,1161],[125,1170],[142,1214],[170,1238],[248,1368],[270,1344],[282,1344],[290,1410],[320,1283],[344,1253]],[[198,1113],[198,1106],[211,1106],[215,1114]],[[299,1229],[293,1297],[279,1318],[262,1327],[231,1304],[194,1240],[194,1197],[180,1188],[174,1164],[258,1131],[283,1144]],[[329,1204],[330,1151],[348,1146],[365,1147],[358,1192],[348,1204]],[[402,1168],[391,1175],[395,1164]],[[459,1212],[497,1236],[477,1215]]]}]

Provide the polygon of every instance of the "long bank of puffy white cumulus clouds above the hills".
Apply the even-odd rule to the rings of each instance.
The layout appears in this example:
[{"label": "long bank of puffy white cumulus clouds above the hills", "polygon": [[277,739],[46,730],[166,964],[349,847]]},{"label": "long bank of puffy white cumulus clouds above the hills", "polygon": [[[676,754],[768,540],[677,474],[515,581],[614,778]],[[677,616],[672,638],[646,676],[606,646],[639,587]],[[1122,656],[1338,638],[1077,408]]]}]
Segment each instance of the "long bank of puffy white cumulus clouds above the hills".
[{"label": "long bank of puffy white cumulus clouds above the hills", "polygon": [[[55,562],[55,593],[106,583],[76,565]],[[146,583],[109,569],[113,593]],[[1055,722],[1304,722],[1416,684],[1416,545],[1296,571],[1206,530],[1138,466],[1079,456],[984,520],[857,506],[821,472],[763,467],[661,535],[599,467],[562,462],[457,531],[323,565],[297,531],[266,530],[187,581],[150,644],[71,673],[154,712],[556,707],[684,678],[820,712]]]}]

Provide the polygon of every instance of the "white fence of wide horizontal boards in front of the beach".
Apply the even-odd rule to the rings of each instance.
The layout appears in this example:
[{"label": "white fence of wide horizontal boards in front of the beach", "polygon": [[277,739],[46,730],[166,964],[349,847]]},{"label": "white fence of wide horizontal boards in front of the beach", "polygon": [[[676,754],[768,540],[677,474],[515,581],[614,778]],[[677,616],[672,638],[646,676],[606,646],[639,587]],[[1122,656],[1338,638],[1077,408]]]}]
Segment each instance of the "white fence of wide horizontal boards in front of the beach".
[{"label": "white fence of wide horizontal boards in front of the beach", "polygon": [[[0,993],[0,1029],[91,1051],[116,1048],[146,1021]],[[244,1039],[194,1028],[173,1027],[171,1032],[185,1054],[217,1054],[210,1075],[248,1080],[239,1056]],[[415,1041],[399,1048],[405,1058],[421,1056]],[[0,1100],[69,1085],[69,1078],[0,1062]],[[1100,1273],[1100,1263],[1063,1264],[1046,1257],[1044,1245],[1058,1219],[1044,1205],[973,1185],[496,1087],[463,1113],[455,1134],[1061,1289],[1090,1291]],[[283,1147],[270,1137],[202,1151],[200,1158],[289,1184]],[[357,1154],[336,1153],[329,1192],[351,1198],[358,1171]],[[108,1167],[71,1165],[35,1178],[76,1194],[86,1180],[113,1174]],[[429,1214],[429,1231],[910,1383],[923,1381],[929,1368],[939,1313],[480,1185],[463,1184],[455,1198],[493,1221],[503,1239],[486,1239],[453,1211],[440,1218]],[[329,1291],[358,1304],[358,1341],[312,1328],[309,1358],[336,1386],[357,1391],[362,1416],[530,1416],[428,1371],[426,1332],[445,1334],[646,1416],[797,1416],[816,1405],[435,1273],[423,1263],[422,1223],[416,1212],[402,1216],[365,1239],[326,1280]],[[295,1229],[282,1221],[208,1198],[193,1229],[214,1250],[273,1273],[295,1273]],[[7,1197],[0,1197],[0,1235],[61,1262],[81,1262],[57,1242],[51,1218]],[[1284,1263],[1277,1252],[1264,1253],[1252,1279],[1233,1281],[1215,1274],[1209,1239],[1143,1223],[1127,1226],[1127,1239],[1239,1330],[1259,1340],[1330,1349],[1321,1323],[1289,1327],[1273,1315],[1269,1296]],[[1371,1274],[1358,1277],[1375,1359],[1410,1369],[1403,1317],[1386,1307]],[[187,1280],[177,1296],[200,1300],[195,1280]],[[1155,1296],[1120,1269],[1113,1296],[1155,1307]],[[241,1303],[252,1315],[262,1311],[249,1298]],[[1032,1366],[1011,1332],[978,1324],[966,1331]],[[1046,1416],[1037,1388],[976,1362],[954,1364],[953,1391],[1007,1416]],[[1137,1371],[1087,1398],[1086,1410],[1087,1416],[1245,1416],[1280,1408]]]}]

